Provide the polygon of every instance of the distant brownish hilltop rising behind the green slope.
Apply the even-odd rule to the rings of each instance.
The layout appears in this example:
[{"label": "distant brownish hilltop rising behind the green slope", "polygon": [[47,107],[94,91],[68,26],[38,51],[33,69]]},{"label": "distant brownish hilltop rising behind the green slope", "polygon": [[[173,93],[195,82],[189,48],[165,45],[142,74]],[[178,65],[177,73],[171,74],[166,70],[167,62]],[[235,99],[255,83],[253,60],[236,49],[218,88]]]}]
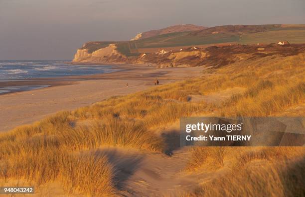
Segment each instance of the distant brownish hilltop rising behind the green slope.
[{"label": "distant brownish hilltop rising behind the green slope", "polygon": [[169,34],[169,33],[174,33],[174,32],[199,31],[199,30],[203,30],[205,28],[206,27],[193,25],[193,24],[173,25],[173,26],[165,27],[163,29],[151,30],[151,31],[137,34],[136,37],[131,40],[145,39],[145,38],[150,38],[153,36]]}]

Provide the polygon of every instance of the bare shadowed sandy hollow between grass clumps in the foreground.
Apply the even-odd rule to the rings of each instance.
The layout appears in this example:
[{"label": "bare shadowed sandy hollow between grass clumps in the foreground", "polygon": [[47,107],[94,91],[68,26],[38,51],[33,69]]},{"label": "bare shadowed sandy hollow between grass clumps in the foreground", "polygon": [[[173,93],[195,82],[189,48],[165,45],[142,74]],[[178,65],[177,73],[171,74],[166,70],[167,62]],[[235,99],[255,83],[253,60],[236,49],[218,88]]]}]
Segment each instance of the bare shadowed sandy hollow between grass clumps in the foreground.
[{"label": "bare shadowed sandy hollow between grass clumps in the foreground", "polygon": [[187,175],[183,169],[191,153],[187,148],[172,156],[123,148],[101,148],[116,171],[115,182],[125,197],[177,196],[192,191],[208,174]]}]

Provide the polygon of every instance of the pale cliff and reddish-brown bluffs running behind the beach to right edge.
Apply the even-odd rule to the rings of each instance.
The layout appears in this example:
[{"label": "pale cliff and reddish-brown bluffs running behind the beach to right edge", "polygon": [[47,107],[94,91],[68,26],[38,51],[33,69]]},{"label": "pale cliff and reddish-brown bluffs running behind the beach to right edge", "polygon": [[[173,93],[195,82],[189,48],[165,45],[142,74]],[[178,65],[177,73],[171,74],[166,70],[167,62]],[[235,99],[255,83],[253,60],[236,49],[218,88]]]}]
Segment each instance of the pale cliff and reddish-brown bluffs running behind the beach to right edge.
[{"label": "pale cliff and reddish-brown bluffs running behind the beach to right edge", "polygon": [[139,56],[129,56],[117,51],[117,46],[98,49],[92,53],[88,49],[78,49],[73,63],[75,64],[154,64],[159,67],[178,66],[211,66],[221,67],[236,61],[248,61],[268,56],[292,56],[304,53],[305,44],[284,45],[228,45],[208,48],[189,47],[167,53],[147,53]]}]

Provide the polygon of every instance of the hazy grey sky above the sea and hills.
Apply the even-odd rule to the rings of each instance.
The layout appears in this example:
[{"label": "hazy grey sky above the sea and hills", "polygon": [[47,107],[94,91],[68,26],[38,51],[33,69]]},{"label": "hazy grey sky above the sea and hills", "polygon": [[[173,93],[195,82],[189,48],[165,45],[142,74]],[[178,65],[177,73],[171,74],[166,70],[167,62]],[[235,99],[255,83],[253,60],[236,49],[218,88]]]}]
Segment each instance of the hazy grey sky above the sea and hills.
[{"label": "hazy grey sky above the sea and hills", "polygon": [[71,60],[87,41],[180,23],[305,23],[305,0],[0,0],[0,60]]}]

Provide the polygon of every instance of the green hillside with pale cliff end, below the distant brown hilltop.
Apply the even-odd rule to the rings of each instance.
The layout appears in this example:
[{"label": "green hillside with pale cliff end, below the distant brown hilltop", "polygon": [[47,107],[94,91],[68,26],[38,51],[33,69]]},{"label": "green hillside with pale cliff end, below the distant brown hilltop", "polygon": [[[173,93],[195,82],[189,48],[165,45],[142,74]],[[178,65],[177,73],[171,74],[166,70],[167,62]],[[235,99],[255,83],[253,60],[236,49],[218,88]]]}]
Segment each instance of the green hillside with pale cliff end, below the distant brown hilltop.
[{"label": "green hillside with pale cliff end, below the distant brown hilltop", "polygon": [[[165,29],[160,32],[170,31]],[[127,57],[156,53],[160,49],[171,51],[192,46],[206,48],[232,44],[271,44],[279,41],[289,41],[291,44],[305,43],[305,25],[225,25],[196,31],[159,34],[133,41],[88,42],[77,51],[73,62],[90,62],[93,57],[95,62],[98,58],[101,63],[107,63],[109,60],[121,62]],[[109,53],[110,44],[114,44],[112,53]]]}]

